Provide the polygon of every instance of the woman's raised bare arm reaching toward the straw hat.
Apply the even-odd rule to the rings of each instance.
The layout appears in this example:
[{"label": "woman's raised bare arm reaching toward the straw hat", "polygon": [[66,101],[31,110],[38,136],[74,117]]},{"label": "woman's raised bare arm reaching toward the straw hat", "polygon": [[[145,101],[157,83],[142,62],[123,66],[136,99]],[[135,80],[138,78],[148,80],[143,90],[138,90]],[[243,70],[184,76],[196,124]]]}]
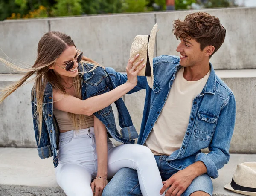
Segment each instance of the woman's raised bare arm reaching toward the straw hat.
[{"label": "woman's raised bare arm reaching toward the straw hat", "polygon": [[109,106],[137,85],[137,75],[145,66],[144,63],[143,66],[135,71],[135,68],[143,62],[139,61],[133,67],[131,67],[133,62],[137,58],[138,56],[128,61],[126,67],[127,82],[125,82],[125,84],[122,84],[117,88],[102,95],[91,97],[86,100],[81,100],[70,95],[65,95],[61,92],[58,92],[57,90],[53,90],[54,107],[64,112],[70,112],[73,114],[84,114],[90,116],[93,113]]}]

